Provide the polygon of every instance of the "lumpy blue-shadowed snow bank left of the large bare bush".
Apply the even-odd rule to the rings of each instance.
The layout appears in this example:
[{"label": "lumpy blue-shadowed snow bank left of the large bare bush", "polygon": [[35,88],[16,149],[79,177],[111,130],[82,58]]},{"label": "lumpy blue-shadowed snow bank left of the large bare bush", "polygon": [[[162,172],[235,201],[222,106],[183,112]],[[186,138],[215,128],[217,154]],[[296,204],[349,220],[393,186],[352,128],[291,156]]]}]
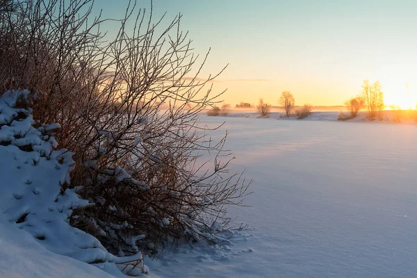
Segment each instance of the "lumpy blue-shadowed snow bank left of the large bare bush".
[{"label": "lumpy blue-shadowed snow bank left of the large bare bush", "polygon": [[[47,254],[69,256],[117,277],[146,272],[142,254],[124,258],[113,256],[97,238],[70,226],[72,210],[89,204],[80,199],[74,189],[61,190],[63,185],[70,184],[72,153],[65,149],[54,150],[58,145],[54,131],[60,126],[49,124],[36,128],[29,103],[30,92],[27,90],[10,90],[0,97],[1,261],[8,258],[6,250],[12,250],[10,253],[18,256],[19,252],[15,251],[24,245],[10,235],[19,234],[22,242],[28,243],[28,254],[32,254],[32,246],[47,260],[63,261],[61,256]],[[16,229],[22,231],[15,233]],[[28,254],[21,254],[19,261]],[[38,257],[35,261],[32,259],[35,258],[31,256],[24,260],[26,265],[21,265],[22,268],[39,261]],[[133,267],[136,263],[138,266]],[[44,268],[42,265],[45,263],[40,264],[40,271]],[[1,266],[0,277],[36,277],[31,268],[27,268],[25,274],[13,272],[13,265],[9,266]],[[41,271],[38,277],[51,277],[48,273]],[[103,272],[97,273],[97,277],[105,277]]]}]

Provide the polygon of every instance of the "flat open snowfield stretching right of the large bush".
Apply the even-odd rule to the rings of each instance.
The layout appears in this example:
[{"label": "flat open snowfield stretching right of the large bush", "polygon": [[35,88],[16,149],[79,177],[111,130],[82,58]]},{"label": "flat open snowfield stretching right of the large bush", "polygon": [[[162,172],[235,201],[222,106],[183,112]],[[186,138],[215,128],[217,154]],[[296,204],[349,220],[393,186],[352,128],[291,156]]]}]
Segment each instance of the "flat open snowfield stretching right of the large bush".
[{"label": "flat open snowfield stretching right of the large bush", "polygon": [[[145,261],[150,277],[416,277],[417,126],[202,117],[253,177],[236,231]],[[220,136],[221,131],[216,131]]]}]

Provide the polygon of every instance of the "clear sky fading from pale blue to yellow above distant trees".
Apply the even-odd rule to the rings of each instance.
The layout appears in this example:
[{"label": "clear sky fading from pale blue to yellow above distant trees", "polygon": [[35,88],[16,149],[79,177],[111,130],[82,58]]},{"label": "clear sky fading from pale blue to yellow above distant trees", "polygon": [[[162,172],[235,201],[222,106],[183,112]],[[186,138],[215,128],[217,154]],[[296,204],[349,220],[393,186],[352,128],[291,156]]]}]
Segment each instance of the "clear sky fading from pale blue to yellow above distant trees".
[{"label": "clear sky fading from pale blue to yellow above distant trees", "polygon": [[[149,0],[138,5],[149,8]],[[99,0],[120,17],[127,0]],[[380,81],[387,105],[417,102],[417,1],[154,0],[154,18],[181,13],[196,54],[211,49],[200,77],[227,69],[213,83],[225,103],[277,105],[289,90],[296,104],[341,105]]]}]

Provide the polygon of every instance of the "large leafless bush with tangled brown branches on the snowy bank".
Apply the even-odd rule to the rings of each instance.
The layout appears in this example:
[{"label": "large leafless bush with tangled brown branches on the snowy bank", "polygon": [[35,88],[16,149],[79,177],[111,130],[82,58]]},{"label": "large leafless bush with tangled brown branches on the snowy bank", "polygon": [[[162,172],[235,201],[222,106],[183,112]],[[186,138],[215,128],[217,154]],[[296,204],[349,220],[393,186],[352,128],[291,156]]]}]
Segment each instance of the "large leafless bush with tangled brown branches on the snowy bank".
[{"label": "large leafless bush with tangled brown branches on the snowy bank", "polygon": [[[92,204],[71,224],[113,254],[215,242],[229,224],[227,205],[241,204],[248,183],[228,174],[226,136],[213,142],[198,125],[221,92],[206,87],[217,75],[197,78],[207,56],[197,65],[181,15],[163,27],[165,19],[154,23],[129,1],[108,38],[92,0],[15,3],[0,13],[0,84],[31,90],[36,124],[60,124],[58,147],[74,153],[62,190],[82,186]],[[208,152],[213,167],[200,161]]]}]

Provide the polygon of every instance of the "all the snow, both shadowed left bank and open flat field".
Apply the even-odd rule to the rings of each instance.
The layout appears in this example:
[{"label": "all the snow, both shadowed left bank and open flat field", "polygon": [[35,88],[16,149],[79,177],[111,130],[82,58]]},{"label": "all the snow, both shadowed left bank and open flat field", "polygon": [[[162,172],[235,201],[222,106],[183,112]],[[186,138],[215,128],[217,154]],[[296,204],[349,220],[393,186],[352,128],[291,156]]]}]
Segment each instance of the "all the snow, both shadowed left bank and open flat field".
[{"label": "all the snow, both shadowed left bank and open flat field", "polygon": [[[115,257],[68,224],[73,208],[88,205],[75,188],[60,193],[72,156],[51,152],[56,142],[44,137],[59,126],[35,129],[30,116],[17,120],[28,114],[12,108],[19,94],[27,96],[0,98],[0,140],[8,142],[0,145],[0,277],[126,277],[125,266],[137,275],[129,261],[142,254]],[[213,127],[226,120],[211,136],[228,129],[225,147],[236,156],[231,170],[245,168],[254,193],[247,206],[229,208],[236,229],[218,245],[199,242],[164,250],[157,261],[145,257],[148,276],[415,277],[417,125],[336,122],[334,115],[202,116],[200,123]],[[109,131],[101,134],[113,140]],[[27,145],[33,150],[19,149]],[[131,179],[124,170],[117,174]]]}]

